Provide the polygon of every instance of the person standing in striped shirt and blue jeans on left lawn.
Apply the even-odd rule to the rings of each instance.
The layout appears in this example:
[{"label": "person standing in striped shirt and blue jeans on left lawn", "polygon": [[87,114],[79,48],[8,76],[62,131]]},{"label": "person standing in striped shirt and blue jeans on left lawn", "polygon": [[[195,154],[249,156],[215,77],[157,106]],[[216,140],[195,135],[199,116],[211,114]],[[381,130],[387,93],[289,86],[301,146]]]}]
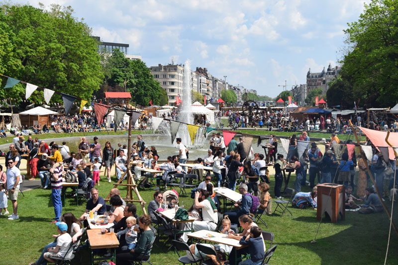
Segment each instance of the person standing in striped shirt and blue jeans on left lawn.
[{"label": "person standing in striped shirt and blue jeans on left lawn", "polygon": [[[57,149],[58,151],[58,149]],[[61,154],[60,154],[61,155]],[[55,163],[53,160],[50,162],[53,167],[49,170],[51,174],[51,200],[54,205],[54,213],[55,213],[55,218],[54,221],[51,223],[55,224],[56,222],[59,222],[61,219],[61,213],[62,213],[62,201],[61,201],[61,190],[62,190],[62,159],[61,163]]]}]

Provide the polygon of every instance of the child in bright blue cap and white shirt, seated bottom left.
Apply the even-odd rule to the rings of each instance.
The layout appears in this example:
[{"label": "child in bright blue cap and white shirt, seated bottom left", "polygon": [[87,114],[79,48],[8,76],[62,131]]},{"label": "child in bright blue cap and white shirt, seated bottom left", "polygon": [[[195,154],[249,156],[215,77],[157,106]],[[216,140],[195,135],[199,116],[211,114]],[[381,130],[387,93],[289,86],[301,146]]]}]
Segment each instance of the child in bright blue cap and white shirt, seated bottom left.
[{"label": "child in bright blue cap and white shirt, seated bottom left", "polygon": [[70,244],[72,244],[71,236],[66,232],[68,230],[68,225],[64,222],[55,223],[57,226],[57,231],[60,236],[57,238],[57,246],[55,248],[48,248],[48,252],[44,253],[44,259],[46,259],[50,263],[56,264],[56,260],[51,258],[63,258],[65,256],[66,259],[72,256],[72,248],[69,248]]}]

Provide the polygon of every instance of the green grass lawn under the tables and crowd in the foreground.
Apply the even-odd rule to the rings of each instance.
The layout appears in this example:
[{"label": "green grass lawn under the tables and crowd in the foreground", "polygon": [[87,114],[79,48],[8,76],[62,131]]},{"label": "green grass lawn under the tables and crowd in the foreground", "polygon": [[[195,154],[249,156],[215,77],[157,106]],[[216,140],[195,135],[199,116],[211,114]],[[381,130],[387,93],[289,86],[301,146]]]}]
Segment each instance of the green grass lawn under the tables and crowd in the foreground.
[{"label": "green grass lawn under the tables and crowd in the foreground", "polygon": [[[100,196],[106,197],[111,183],[105,182],[102,177],[99,190]],[[274,195],[274,177],[271,176],[270,193]],[[295,176],[290,180],[293,186]],[[126,188],[120,186],[121,195],[125,196]],[[303,191],[309,191],[309,187],[303,187]],[[24,192],[25,197],[18,200],[18,214],[20,219],[9,221],[5,216],[0,216],[0,264],[28,264],[36,261],[41,254],[42,248],[52,241],[51,235],[56,233],[54,224],[50,221],[54,217],[51,203],[50,190],[34,189]],[[143,199],[149,203],[153,198],[153,191],[140,190]],[[189,196],[180,196],[180,205],[192,204]],[[138,214],[142,209],[138,204]],[[12,207],[8,202],[8,210]],[[391,208],[391,203],[387,202]],[[273,204],[275,209],[276,204]],[[85,203],[77,206],[75,199],[66,199],[63,213],[72,212],[79,217],[85,209]],[[316,211],[312,209],[296,209],[289,206],[293,216],[273,215],[265,216],[268,229],[260,225],[265,231],[275,234],[274,244],[278,248],[272,257],[271,264],[383,264],[389,231],[389,220],[385,212],[370,215],[361,215],[358,212],[346,212],[346,220],[339,220],[337,224],[323,220],[316,238],[316,244],[311,244],[318,228]],[[394,218],[398,223],[398,214],[395,211]],[[151,261],[158,265],[176,265],[177,254],[173,251],[167,252],[169,246],[157,243],[152,250]],[[267,248],[269,246],[267,245]],[[392,230],[390,251],[387,264],[397,264],[398,237]],[[83,264],[88,264],[88,254],[83,251]]]}]

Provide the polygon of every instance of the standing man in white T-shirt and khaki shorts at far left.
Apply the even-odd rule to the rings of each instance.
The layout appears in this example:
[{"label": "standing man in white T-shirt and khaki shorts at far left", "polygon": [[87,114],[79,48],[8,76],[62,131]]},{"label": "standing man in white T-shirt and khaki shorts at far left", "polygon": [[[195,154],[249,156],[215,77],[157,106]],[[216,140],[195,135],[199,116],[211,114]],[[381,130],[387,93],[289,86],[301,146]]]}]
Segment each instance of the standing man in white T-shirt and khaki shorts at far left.
[{"label": "standing man in white T-shirt and khaki shorts at far left", "polygon": [[19,192],[19,184],[22,182],[21,172],[15,167],[15,161],[8,159],[7,161],[7,182],[6,189],[8,189],[8,198],[12,202],[13,212],[8,216],[8,220],[17,220],[18,216],[18,203],[16,202]]}]

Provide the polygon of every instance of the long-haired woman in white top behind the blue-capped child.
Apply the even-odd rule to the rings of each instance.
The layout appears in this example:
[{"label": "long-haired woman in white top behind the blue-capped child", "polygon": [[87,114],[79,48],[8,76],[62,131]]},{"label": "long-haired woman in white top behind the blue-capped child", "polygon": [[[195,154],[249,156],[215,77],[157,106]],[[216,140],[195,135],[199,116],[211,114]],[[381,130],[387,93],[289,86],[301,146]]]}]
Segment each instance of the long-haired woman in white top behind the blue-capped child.
[{"label": "long-haired woman in white top behind the blue-capped child", "polygon": [[[72,213],[64,213],[61,217],[61,221],[68,225],[67,233],[72,237],[72,242],[75,243],[78,237],[82,235],[82,223]],[[53,235],[53,238],[55,238],[54,242],[51,242],[45,246],[40,258],[36,262],[30,263],[29,265],[42,265],[43,263],[47,264],[47,261],[43,257],[44,253],[48,252],[49,248],[55,248],[57,246],[57,238],[59,236],[60,235]]]}]

